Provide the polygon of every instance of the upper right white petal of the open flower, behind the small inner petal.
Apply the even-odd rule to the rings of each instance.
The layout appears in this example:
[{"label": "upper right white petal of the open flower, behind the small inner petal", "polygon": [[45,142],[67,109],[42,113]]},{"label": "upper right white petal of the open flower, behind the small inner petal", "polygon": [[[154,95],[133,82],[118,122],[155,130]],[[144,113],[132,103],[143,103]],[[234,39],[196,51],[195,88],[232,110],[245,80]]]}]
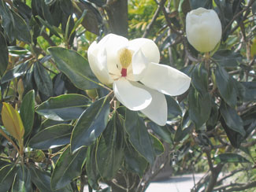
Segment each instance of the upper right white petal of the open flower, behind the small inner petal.
[{"label": "upper right white petal of the open flower, behind the small inner petal", "polygon": [[151,39],[133,39],[128,42],[128,49],[134,50],[135,52],[141,49],[149,62],[159,63],[160,61],[158,46]]}]

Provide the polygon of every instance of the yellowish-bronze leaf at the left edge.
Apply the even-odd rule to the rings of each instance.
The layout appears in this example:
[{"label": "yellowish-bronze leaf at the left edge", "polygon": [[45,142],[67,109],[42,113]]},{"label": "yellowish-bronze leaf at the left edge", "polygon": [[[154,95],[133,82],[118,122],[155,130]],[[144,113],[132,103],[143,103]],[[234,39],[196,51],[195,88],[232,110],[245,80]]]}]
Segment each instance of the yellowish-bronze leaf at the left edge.
[{"label": "yellowish-bronze leaf at the left edge", "polygon": [[20,144],[24,135],[24,125],[20,118],[20,114],[17,110],[13,109],[12,105],[9,105],[6,102],[3,102],[2,104],[2,123],[9,134],[14,138],[17,138]]}]

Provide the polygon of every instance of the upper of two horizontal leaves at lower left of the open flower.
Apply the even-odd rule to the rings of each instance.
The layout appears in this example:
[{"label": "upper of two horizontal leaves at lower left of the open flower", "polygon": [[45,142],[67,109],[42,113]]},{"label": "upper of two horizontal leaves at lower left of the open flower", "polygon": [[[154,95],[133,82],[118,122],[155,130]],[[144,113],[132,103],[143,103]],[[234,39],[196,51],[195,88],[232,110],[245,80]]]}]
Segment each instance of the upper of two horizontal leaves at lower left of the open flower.
[{"label": "upper of two horizontal leaves at lower left of the open flower", "polygon": [[76,120],[87,108],[88,101],[82,94],[63,94],[43,102],[36,113],[50,120]]}]

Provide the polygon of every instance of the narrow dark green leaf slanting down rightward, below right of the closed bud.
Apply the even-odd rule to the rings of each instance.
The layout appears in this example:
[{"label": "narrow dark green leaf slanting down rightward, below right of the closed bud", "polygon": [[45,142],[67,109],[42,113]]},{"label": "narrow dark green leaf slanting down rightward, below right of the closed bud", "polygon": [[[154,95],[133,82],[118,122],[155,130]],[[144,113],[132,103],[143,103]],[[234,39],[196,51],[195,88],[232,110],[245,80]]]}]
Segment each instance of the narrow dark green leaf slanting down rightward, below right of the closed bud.
[{"label": "narrow dark green leaf slanting down rightward, below right of the closed bud", "polygon": [[228,75],[228,72],[224,68],[217,66],[215,70],[216,84],[220,91],[221,97],[228,105],[236,106],[236,90],[233,87],[232,79]]}]

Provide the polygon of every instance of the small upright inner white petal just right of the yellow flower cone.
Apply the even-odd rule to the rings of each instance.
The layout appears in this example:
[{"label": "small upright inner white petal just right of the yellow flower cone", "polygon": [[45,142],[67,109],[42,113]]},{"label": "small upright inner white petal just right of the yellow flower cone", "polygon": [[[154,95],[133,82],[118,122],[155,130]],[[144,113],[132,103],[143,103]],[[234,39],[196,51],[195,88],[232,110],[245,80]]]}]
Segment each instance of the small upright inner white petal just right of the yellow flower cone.
[{"label": "small upright inner white petal just right of the yellow flower cone", "polygon": [[139,81],[143,77],[143,72],[147,69],[148,60],[142,50],[138,50],[132,56],[132,65],[128,67],[127,78],[132,81]]}]

